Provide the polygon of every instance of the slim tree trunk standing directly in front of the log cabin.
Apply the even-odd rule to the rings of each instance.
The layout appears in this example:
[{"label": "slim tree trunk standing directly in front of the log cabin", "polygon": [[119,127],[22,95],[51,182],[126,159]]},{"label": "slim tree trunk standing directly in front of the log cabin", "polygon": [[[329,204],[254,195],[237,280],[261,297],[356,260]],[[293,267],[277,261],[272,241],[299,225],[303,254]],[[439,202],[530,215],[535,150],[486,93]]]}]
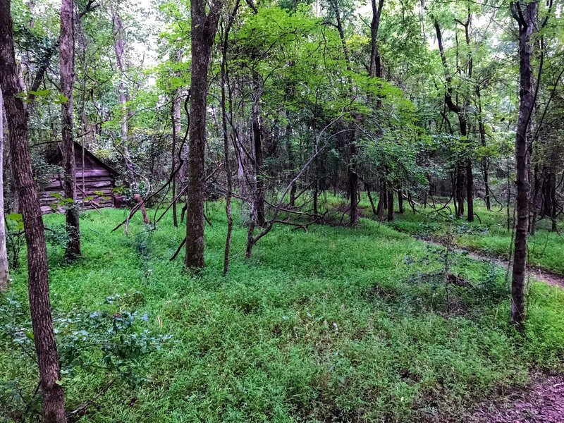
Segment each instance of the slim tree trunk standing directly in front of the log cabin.
[{"label": "slim tree trunk standing directly in front of the log cabin", "polygon": [[66,101],[61,104],[61,135],[63,137],[65,197],[72,200],[66,209],[67,243],[65,258],[73,261],[80,257],[80,229],[76,202],[76,163],[73,140],[73,85],[75,80],[74,1],[61,2],[61,37],[59,38],[61,94]]}]

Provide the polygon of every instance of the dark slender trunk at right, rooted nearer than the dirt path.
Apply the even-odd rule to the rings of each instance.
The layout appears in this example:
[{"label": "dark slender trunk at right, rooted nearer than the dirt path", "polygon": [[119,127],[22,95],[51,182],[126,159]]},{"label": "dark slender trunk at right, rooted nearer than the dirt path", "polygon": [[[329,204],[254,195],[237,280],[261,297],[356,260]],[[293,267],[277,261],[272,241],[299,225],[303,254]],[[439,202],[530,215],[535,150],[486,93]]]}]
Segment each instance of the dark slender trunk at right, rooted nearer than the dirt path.
[{"label": "dark slender trunk at right, rooted nearer than the dirt path", "polygon": [[[521,10],[524,8],[524,10]],[[519,118],[515,133],[517,185],[517,224],[511,284],[511,321],[525,330],[525,276],[527,272],[527,233],[529,229],[529,123],[534,109],[532,87],[531,35],[537,20],[538,2],[512,4],[513,17],[519,23]]]}]

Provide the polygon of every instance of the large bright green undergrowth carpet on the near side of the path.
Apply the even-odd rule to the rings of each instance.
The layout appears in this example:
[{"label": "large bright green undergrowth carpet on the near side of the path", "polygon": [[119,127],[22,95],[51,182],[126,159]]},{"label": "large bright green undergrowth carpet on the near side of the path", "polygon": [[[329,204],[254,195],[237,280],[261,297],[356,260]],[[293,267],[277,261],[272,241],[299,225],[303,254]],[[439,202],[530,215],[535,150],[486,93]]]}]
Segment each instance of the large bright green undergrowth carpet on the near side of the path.
[{"label": "large bright green undergrowth carpet on the near side of the path", "polygon": [[[116,381],[80,422],[441,421],[524,384],[531,369],[561,369],[562,290],[532,286],[522,339],[507,323],[502,269],[451,257],[453,273],[474,288],[450,286],[447,300],[441,280],[426,276],[441,269],[443,253],[384,224],[279,226],[249,262],[238,224],[223,278],[221,203],[210,204],[207,269],[197,276],[183,271],[183,255],[168,261],[184,236],[171,216],[157,231],[135,216],[126,238],[110,232],[125,213],[84,214],[83,257],[72,266],[49,247],[56,317],[137,310],[148,315],[138,331],[173,338],[143,357],[147,382]],[[50,226],[62,221],[47,216]],[[407,214],[401,222],[422,224]],[[25,304],[25,274],[13,278],[8,296]],[[63,377],[68,407],[109,378],[92,369]],[[13,379],[32,391],[36,369],[0,328],[0,383]],[[6,412],[8,396],[0,398]]]}]

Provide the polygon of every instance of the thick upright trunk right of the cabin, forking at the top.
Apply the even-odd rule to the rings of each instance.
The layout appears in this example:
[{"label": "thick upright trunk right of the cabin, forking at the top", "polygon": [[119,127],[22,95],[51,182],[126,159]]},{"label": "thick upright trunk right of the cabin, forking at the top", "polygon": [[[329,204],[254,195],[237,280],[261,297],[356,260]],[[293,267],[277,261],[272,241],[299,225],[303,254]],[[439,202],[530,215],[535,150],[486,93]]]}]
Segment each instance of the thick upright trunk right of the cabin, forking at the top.
[{"label": "thick upright trunk right of the cabin, forking at the top", "polygon": [[206,149],[207,71],[219,20],[221,0],[206,14],[204,0],[192,0],[192,64],[190,75],[190,149],[186,201],[186,257],[189,269],[204,267],[204,160]]}]

